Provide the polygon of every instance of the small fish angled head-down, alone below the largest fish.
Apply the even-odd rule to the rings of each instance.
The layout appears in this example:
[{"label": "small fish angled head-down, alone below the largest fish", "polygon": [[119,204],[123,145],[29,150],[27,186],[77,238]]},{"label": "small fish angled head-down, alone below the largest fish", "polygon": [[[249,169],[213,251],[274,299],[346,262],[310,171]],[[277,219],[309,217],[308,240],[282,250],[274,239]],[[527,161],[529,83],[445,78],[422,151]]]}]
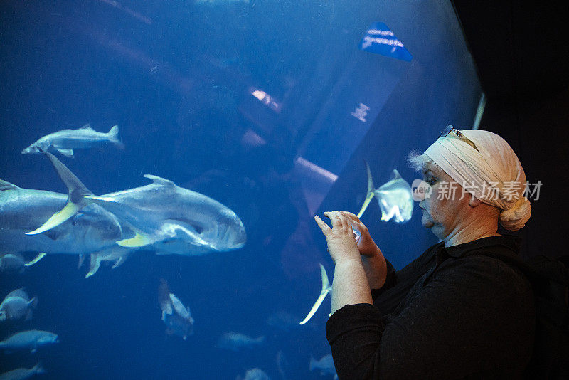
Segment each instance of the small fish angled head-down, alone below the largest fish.
[{"label": "small fish angled head-down, alone below the largest fish", "polygon": [[161,319],[168,327],[166,334],[178,335],[186,340],[188,335],[193,334],[193,318],[190,307],[184,306],[178,297],[170,292],[168,283],[164,279],[160,280],[158,293],[162,310]]}]

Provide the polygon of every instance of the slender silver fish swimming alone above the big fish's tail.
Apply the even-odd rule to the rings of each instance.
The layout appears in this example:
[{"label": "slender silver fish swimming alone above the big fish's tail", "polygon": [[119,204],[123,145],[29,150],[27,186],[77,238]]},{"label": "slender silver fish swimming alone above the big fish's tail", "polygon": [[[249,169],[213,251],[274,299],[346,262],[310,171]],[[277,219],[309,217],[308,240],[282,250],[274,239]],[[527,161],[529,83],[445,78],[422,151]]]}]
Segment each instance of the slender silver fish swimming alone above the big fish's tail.
[{"label": "slender silver fish swimming alone above the big fish's tail", "polygon": [[119,126],[115,125],[109,132],[97,132],[85,124],[77,130],[60,130],[41,137],[38,141],[22,150],[22,154],[40,153],[41,149],[48,152],[59,152],[65,157],[73,158],[73,149],[87,149],[98,144],[110,142],[124,148],[119,141]]}]

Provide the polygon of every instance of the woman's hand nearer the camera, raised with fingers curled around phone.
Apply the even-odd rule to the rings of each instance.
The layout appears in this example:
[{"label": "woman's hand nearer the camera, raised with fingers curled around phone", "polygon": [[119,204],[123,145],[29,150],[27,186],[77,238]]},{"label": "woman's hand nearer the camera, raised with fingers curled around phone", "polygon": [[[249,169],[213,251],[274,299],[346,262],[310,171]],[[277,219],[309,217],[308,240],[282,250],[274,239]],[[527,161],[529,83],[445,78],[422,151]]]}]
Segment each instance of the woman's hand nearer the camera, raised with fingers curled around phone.
[{"label": "woman's hand nearer the camera, raised with fingers curled around phone", "polygon": [[324,216],[331,220],[332,228],[324,223],[319,216],[314,216],[314,219],[324,236],[326,236],[328,252],[334,263],[337,263],[339,260],[357,260],[358,263],[361,262],[350,218],[339,211],[325,212]]}]

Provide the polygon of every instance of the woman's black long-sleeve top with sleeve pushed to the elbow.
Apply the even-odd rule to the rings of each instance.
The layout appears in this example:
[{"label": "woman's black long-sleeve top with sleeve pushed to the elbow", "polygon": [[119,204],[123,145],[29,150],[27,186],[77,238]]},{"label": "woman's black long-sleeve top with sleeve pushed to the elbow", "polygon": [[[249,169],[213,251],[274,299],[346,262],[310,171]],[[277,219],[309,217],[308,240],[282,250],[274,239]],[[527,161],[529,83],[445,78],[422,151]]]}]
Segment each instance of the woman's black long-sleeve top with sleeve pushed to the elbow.
[{"label": "woman's black long-sleeve top with sleeve pushed to the elbow", "polygon": [[388,263],[374,305],[346,305],[326,323],[339,379],[520,379],[532,352],[531,284],[480,253],[516,236],[440,242],[402,270]]}]

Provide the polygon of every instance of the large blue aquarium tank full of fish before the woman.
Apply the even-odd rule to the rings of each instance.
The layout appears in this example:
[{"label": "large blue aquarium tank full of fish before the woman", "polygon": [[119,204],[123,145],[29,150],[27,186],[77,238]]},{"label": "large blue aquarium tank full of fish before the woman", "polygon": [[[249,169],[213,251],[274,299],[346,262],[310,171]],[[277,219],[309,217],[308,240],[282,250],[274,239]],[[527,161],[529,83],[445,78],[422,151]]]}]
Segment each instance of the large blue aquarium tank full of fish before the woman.
[{"label": "large blue aquarium tank full of fish before the woman", "polygon": [[[9,379],[333,379],[314,215],[484,103],[450,1],[10,0],[0,38]],[[402,268],[437,238],[381,201]]]}]

